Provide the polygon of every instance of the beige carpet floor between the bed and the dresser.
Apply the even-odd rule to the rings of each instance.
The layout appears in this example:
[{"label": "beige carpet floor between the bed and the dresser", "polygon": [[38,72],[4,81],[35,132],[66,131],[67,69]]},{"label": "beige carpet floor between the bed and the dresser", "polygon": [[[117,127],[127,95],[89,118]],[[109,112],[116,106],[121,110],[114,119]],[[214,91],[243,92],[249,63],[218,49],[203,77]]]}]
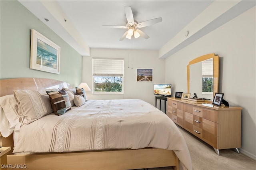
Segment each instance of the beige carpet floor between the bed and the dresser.
[{"label": "beige carpet floor between the bed and the dresser", "polygon": [[[220,150],[220,156],[218,156],[212,146],[186,130],[178,128],[187,142],[193,170],[256,170],[256,160],[241,153],[237,154],[233,149]],[[149,168],[148,170],[173,170],[173,168]]]}]

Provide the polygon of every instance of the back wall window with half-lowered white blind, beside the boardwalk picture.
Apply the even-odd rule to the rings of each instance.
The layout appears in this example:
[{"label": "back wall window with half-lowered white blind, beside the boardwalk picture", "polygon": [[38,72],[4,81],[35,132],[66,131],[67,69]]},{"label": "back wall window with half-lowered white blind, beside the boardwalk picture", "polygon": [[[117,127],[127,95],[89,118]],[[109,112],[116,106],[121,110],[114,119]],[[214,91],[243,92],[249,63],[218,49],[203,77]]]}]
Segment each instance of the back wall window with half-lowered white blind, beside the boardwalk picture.
[{"label": "back wall window with half-lowered white blind, beside the boardwalk picture", "polygon": [[124,93],[124,59],[92,59],[93,93]]}]

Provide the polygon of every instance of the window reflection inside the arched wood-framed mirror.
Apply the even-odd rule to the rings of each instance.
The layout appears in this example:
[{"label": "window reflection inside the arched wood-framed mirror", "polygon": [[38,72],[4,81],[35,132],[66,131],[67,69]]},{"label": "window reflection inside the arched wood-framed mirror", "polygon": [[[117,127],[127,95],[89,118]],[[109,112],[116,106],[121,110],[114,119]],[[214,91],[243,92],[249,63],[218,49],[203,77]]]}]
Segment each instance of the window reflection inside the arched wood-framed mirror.
[{"label": "window reflection inside the arched wood-framed mirror", "polygon": [[213,92],[213,59],[202,61],[202,92]]}]

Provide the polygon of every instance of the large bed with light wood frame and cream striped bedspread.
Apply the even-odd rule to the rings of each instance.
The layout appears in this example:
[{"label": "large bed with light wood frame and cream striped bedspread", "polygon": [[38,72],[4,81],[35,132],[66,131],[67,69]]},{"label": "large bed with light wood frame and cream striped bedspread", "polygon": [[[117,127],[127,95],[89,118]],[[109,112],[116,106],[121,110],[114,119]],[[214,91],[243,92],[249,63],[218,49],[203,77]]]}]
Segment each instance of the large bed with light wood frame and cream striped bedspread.
[{"label": "large bed with light wood frame and cream striped bedspread", "polygon": [[[8,132],[2,130],[1,118],[1,146],[12,147],[7,164],[62,170],[166,166],[178,170],[181,164],[183,170],[192,170],[186,142],[176,125],[145,101],[89,99],[79,107],[72,105],[63,115],[52,113],[52,106],[51,113],[47,111],[39,118],[37,115],[36,119],[30,119],[30,109],[24,111],[28,104],[18,93],[43,89],[48,93],[44,100],[50,102],[49,96],[56,89],[70,92],[74,89],[63,81],[43,78],[2,79],[0,85],[1,115],[8,112],[3,111],[2,105],[6,96],[15,95],[16,111],[21,112],[22,102],[25,108],[22,108],[24,115],[17,116],[18,121],[9,122],[12,130]],[[71,101],[70,93],[67,94]]]}]

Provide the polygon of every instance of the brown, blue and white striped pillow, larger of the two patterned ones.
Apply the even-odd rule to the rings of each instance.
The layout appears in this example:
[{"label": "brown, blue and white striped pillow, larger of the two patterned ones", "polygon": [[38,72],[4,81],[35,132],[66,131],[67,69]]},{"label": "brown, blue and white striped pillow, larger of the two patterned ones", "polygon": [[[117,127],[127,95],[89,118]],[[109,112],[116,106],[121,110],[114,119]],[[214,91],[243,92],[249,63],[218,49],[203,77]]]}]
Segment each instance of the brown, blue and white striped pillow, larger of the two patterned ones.
[{"label": "brown, blue and white striped pillow, larger of the two patterned ones", "polygon": [[68,93],[64,89],[60,91],[46,91],[46,93],[49,95],[55,115],[63,115],[71,109]]}]

